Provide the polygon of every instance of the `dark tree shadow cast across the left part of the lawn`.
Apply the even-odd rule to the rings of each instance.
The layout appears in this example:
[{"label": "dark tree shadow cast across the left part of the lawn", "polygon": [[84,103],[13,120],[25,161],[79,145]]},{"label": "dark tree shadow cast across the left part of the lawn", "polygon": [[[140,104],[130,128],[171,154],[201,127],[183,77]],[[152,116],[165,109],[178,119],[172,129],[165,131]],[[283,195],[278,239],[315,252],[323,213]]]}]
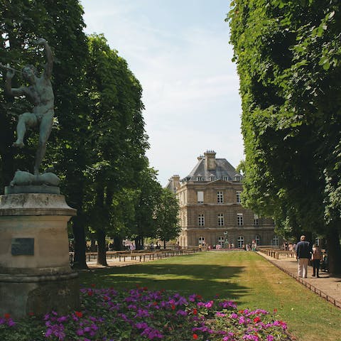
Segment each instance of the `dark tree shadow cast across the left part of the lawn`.
[{"label": "dark tree shadow cast across the left part of the lawn", "polygon": [[[166,264],[158,261],[131,266],[112,266],[80,272],[81,286],[97,288],[134,288],[173,290],[187,296],[229,298],[238,303],[249,288],[238,283],[243,266],[209,264]],[[237,283],[236,283],[237,282]]]}]

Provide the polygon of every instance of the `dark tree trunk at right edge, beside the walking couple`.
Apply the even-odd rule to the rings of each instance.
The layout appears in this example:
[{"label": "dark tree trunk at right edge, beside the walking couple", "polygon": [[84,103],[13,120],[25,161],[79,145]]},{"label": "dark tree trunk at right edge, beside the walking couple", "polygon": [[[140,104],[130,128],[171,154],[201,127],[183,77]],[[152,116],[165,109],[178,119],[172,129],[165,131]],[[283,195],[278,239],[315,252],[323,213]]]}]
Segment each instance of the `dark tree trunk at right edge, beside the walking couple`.
[{"label": "dark tree trunk at right edge, beside the walking couple", "polygon": [[328,227],[326,234],[329,273],[341,274],[340,236],[336,224]]}]

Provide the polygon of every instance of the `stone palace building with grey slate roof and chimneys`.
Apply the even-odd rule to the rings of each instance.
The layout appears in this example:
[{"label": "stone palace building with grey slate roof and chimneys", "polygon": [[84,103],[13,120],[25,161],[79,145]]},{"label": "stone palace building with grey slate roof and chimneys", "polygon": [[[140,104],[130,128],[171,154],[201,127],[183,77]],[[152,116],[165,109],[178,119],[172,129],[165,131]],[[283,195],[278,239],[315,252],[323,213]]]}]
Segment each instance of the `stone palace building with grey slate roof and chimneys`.
[{"label": "stone palace building with grey slate roof and chimneys", "polygon": [[180,179],[173,175],[166,186],[179,200],[180,246],[226,247],[228,242],[242,247],[253,240],[257,245],[278,245],[273,220],[242,207],[242,175],[225,158],[215,155],[215,151],[206,151],[188,176]]}]

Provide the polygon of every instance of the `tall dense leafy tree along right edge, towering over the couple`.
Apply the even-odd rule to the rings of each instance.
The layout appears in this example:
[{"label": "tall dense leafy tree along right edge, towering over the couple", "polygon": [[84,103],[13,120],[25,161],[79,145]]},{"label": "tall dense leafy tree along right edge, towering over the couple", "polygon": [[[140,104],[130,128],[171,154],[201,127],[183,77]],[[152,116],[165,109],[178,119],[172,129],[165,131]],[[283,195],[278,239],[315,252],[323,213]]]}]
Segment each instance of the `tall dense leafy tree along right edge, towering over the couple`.
[{"label": "tall dense leafy tree along right edge, towering over the couple", "polygon": [[286,233],[317,232],[340,273],[340,1],[236,0],[244,202]]}]

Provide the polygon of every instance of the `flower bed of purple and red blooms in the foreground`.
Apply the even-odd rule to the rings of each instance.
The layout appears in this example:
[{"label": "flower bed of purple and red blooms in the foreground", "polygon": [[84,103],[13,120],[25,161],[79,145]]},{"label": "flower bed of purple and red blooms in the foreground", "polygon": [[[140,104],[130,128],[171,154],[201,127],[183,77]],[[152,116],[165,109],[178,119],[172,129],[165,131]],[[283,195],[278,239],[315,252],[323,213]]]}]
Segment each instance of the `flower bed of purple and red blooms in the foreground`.
[{"label": "flower bed of purple and red blooms in the foreground", "polygon": [[124,340],[291,340],[286,323],[266,310],[237,310],[233,301],[203,301],[170,291],[147,288],[81,290],[82,309],[69,315],[33,314],[15,322],[0,318],[6,341],[124,341]]}]

